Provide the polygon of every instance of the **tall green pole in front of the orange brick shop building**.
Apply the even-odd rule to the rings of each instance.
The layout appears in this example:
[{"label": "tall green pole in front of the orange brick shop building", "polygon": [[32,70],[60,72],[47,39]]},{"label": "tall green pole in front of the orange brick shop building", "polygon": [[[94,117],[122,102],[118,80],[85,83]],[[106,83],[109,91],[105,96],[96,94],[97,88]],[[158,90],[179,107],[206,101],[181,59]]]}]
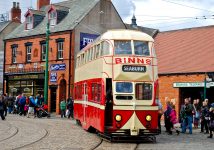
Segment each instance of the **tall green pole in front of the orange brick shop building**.
[{"label": "tall green pole in front of the orange brick shop building", "polygon": [[49,74],[48,74],[48,56],[49,56],[49,36],[50,36],[50,25],[49,21],[47,23],[47,30],[46,30],[46,55],[45,55],[45,89],[44,89],[44,102],[47,104],[48,102],[48,79],[49,79]]}]

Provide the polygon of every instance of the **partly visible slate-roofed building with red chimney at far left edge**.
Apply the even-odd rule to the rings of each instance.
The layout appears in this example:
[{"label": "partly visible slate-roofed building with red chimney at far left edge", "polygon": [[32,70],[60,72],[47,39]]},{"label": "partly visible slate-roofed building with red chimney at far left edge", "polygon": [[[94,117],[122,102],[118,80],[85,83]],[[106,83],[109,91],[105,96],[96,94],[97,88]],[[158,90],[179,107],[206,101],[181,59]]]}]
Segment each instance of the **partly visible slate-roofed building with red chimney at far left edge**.
[{"label": "partly visible slate-roofed building with red chimney at far left edge", "polygon": [[[13,2],[13,7],[10,11],[11,19],[0,18],[0,91],[3,90],[3,62],[4,62],[4,41],[3,39],[12,32],[21,20],[21,9],[19,3]],[[2,16],[2,15],[1,15]],[[9,15],[8,15],[9,16]]]}]

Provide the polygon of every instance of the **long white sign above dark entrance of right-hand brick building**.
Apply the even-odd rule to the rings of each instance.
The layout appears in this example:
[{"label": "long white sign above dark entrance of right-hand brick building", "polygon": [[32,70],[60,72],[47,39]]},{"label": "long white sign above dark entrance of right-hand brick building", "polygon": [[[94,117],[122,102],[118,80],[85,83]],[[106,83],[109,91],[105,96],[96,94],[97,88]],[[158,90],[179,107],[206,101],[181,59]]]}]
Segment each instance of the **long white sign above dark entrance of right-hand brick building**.
[{"label": "long white sign above dark entrance of right-hand brick building", "polygon": [[[212,87],[214,86],[214,82],[209,82],[206,84],[206,87]],[[204,82],[176,82],[173,83],[174,88],[179,88],[179,87],[204,87]]]}]

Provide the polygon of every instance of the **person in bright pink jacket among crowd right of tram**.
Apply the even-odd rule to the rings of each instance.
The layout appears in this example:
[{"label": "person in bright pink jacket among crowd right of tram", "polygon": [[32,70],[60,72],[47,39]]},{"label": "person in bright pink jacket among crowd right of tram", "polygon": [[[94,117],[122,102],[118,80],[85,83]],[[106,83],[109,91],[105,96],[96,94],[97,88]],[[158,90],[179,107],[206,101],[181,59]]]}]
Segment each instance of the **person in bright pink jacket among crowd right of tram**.
[{"label": "person in bright pink jacket among crowd right of tram", "polygon": [[[172,124],[172,130],[175,130],[175,132],[177,133],[177,135],[179,135],[180,131],[177,129],[179,127],[179,123],[178,123],[177,113],[176,113],[175,105],[174,104],[172,104],[172,110],[171,110],[169,116],[170,116],[170,122]],[[170,131],[172,131],[172,130],[170,130]]]}]

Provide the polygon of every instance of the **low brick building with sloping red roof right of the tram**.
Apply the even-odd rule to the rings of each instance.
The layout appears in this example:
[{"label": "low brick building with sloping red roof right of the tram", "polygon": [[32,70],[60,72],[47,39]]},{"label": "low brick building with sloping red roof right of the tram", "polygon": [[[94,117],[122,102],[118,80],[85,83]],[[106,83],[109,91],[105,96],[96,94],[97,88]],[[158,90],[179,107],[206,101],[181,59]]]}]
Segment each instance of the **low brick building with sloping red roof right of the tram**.
[{"label": "low brick building with sloping red roof right of the tram", "polygon": [[[155,39],[159,98],[173,99],[179,110],[184,98],[214,102],[214,26],[161,32]],[[206,78],[206,88],[205,88]]]}]

